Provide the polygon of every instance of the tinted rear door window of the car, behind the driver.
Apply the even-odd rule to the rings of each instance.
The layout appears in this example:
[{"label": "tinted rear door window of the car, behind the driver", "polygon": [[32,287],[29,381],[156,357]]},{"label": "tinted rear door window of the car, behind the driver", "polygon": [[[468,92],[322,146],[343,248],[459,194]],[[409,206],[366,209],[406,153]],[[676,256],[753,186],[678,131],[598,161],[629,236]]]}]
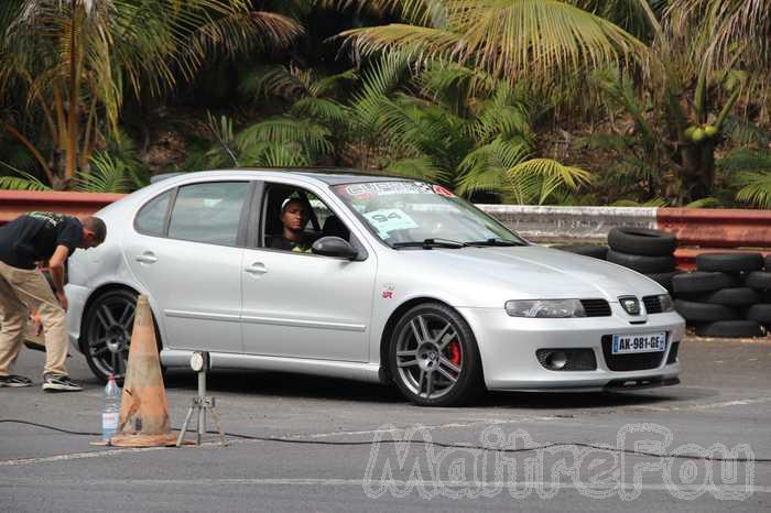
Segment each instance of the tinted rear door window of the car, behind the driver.
[{"label": "tinted rear door window of the car, behind the driver", "polygon": [[173,239],[236,245],[246,182],[215,182],[180,187],[169,223]]}]

